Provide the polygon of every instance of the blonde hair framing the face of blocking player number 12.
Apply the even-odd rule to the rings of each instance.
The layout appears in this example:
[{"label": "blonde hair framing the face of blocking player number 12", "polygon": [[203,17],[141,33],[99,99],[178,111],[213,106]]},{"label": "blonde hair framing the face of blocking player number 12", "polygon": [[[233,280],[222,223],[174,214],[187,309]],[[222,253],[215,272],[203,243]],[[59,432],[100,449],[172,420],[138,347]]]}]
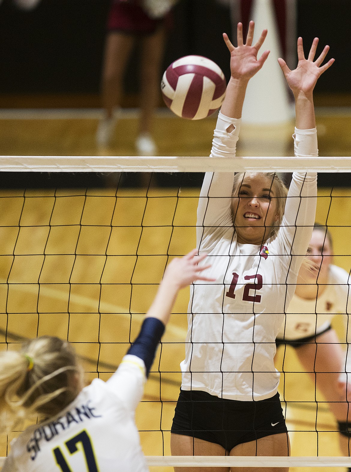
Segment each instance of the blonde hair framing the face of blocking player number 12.
[{"label": "blonde hair framing the face of blocking player number 12", "polygon": [[[238,197],[240,187],[242,185],[242,181],[245,175],[248,175],[248,174],[246,172],[238,172],[234,176],[234,185],[233,185],[232,203],[231,203],[233,221],[235,219],[235,214],[236,214],[236,204],[233,197]],[[249,175],[252,175],[252,174],[249,174]],[[283,180],[276,174],[276,172],[262,172],[262,173],[260,172],[259,176],[267,177],[268,179],[271,180],[270,188],[274,189],[274,193],[275,193],[275,196],[272,198],[276,200],[276,211],[278,214],[278,218],[276,219],[276,221],[274,221],[273,226],[270,227],[270,232],[267,236],[267,239],[269,239],[270,237],[276,236],[280,228],[280,225],[282,224],[286,197],[288,195],[288,189],[286,188]]]}]

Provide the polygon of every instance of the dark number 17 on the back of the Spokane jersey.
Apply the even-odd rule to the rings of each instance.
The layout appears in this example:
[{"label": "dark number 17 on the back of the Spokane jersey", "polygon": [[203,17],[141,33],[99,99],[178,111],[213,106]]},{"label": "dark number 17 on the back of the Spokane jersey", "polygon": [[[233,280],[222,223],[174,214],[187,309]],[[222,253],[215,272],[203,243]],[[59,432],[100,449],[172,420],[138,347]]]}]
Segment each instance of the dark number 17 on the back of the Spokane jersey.
[{"label": "dark number 17 on the back of the Spokane jersey", "polygon": [[[76,436],[65,442],[67,449],[70,454],[74,454],[78,451],[77,444],[81,443],[83,446],[83,452],[85,456],[86,468],[88,472],[99,472],[98,464],[96,463],[94,451],[92,448],[92,441],[90,440],[88,433],[83,430]],[[60,467],[62,472],[72,472],[72,469],[67,464],[65,456],[59,447],[55,447],[52,451],[54,453],[56,463]]]}]

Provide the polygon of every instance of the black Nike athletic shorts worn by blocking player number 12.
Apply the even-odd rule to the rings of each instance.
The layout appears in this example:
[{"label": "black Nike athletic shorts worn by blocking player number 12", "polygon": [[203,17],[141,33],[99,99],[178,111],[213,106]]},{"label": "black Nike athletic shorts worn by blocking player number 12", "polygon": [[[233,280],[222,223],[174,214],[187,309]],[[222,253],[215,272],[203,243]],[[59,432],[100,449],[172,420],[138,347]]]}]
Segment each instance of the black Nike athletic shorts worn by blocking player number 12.
[{"label": "black Nike athletic shorts worn by blocking player number 12", "polygon": [[199,390],[180,390],[172,433],[233,447],[287,429],[279,393],[266,400],[242,402]]}]

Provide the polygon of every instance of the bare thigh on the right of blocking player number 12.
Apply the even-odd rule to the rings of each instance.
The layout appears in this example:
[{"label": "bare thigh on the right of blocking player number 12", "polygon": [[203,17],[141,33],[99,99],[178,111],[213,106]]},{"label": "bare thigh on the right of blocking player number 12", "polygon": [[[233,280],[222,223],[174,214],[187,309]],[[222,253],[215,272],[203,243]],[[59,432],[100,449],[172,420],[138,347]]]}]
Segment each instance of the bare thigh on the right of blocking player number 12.
[{"label": "bare thigh on the right of blocking player number 12", "polygon": [[[287,433],[272,434],[233,447],[230,455],[289,456],[290,440]],[[261,472],[261,467],[231,467],[231,472]],[[265,467],[265,472],[288,472],[288,467]]]}]

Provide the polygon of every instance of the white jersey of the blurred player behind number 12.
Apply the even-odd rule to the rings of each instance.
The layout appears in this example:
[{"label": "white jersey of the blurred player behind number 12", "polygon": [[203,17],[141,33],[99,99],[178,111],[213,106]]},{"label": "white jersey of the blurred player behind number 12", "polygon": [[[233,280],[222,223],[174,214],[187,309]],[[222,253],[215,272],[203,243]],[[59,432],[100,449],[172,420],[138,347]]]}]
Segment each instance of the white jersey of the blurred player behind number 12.
[{"label": "white jersey of the blurred player behind number 12", "polygon": [[[304,300],[294,295],[277,339],[297,340],[315,336],[330,325],[337,313],[350,312],[349,274],[341,267],[330,265],[327,287],[316,299]],[[347,317],[349,318],[349,317]],[[348,322],[348,319],[346,320]]]}]

